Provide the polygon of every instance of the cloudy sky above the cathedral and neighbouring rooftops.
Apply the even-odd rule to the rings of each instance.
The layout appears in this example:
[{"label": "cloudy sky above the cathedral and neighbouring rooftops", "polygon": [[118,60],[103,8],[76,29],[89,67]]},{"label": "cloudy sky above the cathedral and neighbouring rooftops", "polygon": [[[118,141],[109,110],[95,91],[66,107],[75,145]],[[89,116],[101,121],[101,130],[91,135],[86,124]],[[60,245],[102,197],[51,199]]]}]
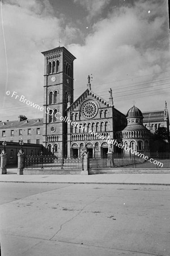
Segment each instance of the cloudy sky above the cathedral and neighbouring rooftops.
[{"label": "cloudy sky above the cathedral and neighbouring rooftops", "polygon": [[122,113],[170,110],[167,0],[3,0],[0,26],[0,120],[42,117],[11,98],[17,92],[43,105],[42,51],[65,46],[74,61],[74,99],[86,89]]}]

